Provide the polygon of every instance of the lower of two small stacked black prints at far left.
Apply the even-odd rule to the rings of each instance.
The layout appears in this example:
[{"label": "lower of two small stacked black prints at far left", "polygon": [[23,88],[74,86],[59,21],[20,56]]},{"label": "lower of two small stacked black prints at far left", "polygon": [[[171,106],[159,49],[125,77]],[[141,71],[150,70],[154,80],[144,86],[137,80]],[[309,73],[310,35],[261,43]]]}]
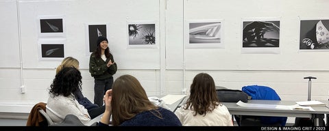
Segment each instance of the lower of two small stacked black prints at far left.
[{"label": "lower of two small stacked black prints at far left", "polygon": [[64,58],[64,44],[41,44],[42,57]]}]

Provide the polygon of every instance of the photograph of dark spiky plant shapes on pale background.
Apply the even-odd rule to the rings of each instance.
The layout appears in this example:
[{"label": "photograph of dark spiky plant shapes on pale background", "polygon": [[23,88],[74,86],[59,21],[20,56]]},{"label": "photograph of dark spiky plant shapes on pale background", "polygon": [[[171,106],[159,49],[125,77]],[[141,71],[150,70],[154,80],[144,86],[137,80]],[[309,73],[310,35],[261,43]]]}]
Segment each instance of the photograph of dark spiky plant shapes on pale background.
[{"label": "photograph of dark spiky plant shapes on pale background", "polygon": [[128,23],[128,46],[147,48],[156,46],[155,23]]}]

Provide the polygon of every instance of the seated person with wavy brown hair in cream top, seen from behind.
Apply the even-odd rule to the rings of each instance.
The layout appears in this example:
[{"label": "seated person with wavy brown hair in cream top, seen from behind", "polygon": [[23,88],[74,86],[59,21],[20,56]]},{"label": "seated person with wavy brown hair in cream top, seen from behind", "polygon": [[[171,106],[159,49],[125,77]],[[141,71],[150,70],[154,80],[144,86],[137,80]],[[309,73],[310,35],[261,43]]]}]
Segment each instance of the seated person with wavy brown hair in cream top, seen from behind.
[{"label": "seated person with wavy brown hair in cream top, seen from behind", "polygon": [[183,126],[233,126],[232,115],[217,98],[214,79],[206,73],[195,76],[190,96],[175,115]]}]

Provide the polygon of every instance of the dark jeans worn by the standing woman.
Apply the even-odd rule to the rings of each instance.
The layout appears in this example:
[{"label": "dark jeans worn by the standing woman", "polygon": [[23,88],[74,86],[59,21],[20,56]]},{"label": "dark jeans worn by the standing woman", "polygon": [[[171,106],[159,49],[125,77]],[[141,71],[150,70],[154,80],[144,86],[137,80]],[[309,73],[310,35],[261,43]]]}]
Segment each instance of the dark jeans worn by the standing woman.
[{"label": "dark jeans worn by the standing woman", "polygon": [[113,85],[113,77],[106,78],[104,80],[97,80],[95,79],[95,97],[94,103],[98,106],[103,106],[103,97],[108,89],[112,89]]}]

